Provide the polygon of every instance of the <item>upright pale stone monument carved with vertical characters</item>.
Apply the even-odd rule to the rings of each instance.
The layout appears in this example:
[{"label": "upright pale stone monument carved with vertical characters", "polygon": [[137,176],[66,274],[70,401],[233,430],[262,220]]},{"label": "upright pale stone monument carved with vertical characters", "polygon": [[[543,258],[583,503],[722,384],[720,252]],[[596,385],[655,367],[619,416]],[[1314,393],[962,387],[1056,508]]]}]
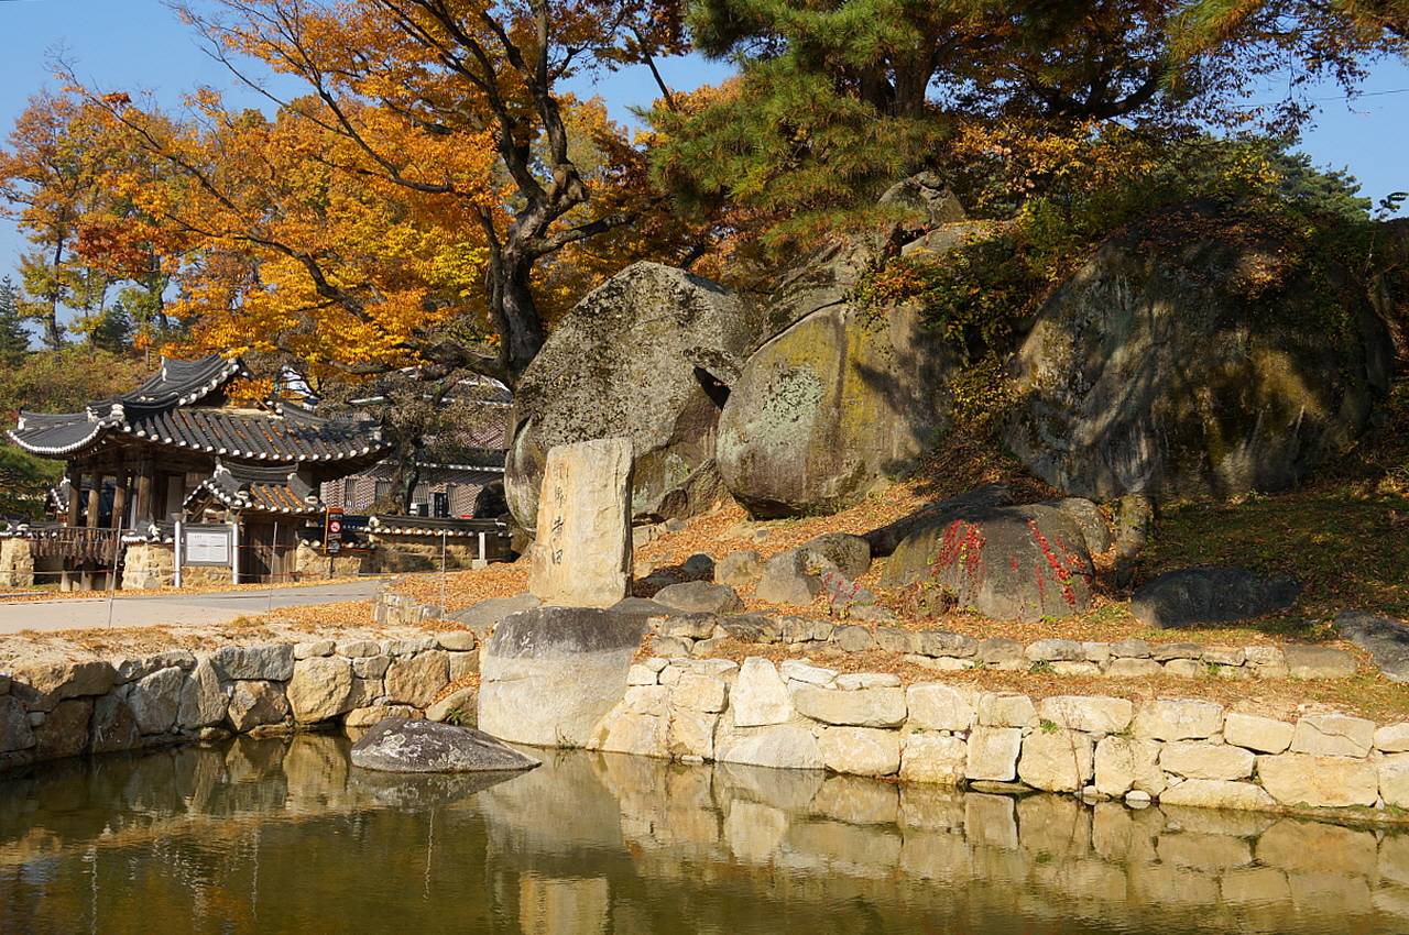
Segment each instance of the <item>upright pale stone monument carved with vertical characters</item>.
[{"label": "upright pale stone monument carved with vertical characters", "polygon": [[528,590],[548,607],[610,607],[630,594],[630,438],[558,445],[538,497]]}]

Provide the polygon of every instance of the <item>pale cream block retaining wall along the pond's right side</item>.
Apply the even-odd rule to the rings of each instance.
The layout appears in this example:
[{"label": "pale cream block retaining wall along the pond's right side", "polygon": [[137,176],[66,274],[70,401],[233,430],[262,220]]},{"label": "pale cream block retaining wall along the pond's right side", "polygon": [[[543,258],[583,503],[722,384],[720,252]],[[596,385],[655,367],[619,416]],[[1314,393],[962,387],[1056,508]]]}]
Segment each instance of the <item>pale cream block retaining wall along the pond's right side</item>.
[{"label": "pale cream block retaining wall along the pond's right side", "polygon": [[1289,724],[1208,701],[1034,703],[762,658],[650,658],[628,686],[595,749],[1171,805],[1409,807],[1409,724]]}]

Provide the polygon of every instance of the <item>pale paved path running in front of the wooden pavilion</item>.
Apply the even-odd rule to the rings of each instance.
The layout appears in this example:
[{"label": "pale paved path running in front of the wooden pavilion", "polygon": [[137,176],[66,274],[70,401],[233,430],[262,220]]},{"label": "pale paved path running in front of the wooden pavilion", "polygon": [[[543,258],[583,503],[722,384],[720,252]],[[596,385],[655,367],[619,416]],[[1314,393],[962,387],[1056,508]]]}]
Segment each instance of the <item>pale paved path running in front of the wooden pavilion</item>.
[{"label": "pale paved path running in front of the wooden pavilion", "polygon": [[0,598],[0,634],[21,629],[93,629],[113,627],[159,627],[163,624],[224,624],[241,614],[263,614],[280,607],[307,607],[341,601],[371,600],[380,579],[323,584],[314,587],[275,587],[268,591],[210,591],[204,594],[163,594],[138,597],[121,594],[69,597],[49,601],[7,601]]}]

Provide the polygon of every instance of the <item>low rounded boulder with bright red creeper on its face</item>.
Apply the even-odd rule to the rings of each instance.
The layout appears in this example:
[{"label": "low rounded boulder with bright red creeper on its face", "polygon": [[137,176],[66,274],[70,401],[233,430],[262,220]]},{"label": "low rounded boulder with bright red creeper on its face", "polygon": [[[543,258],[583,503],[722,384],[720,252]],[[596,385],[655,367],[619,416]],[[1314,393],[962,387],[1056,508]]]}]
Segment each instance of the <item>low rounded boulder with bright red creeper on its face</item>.
[{"label": "low rounded boulder with bright red creeper on its face", "polygon": [[886,563],[881,584],[933,582],[995,620],[1034,621],[1091,610],[1091,552],[1081,527],[1040,504],[940,514],[914,529]]}]

